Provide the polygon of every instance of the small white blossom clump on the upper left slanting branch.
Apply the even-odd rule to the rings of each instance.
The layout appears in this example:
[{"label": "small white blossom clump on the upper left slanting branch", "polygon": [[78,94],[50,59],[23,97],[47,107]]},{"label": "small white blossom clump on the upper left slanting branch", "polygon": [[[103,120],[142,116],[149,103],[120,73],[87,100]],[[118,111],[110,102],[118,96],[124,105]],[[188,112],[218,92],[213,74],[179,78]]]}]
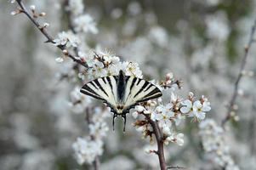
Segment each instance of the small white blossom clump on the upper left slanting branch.
[{"label": "small white blossom clump on the upper left slanting branch", "polygon": [[76,48],[80,42],[78,37],[71,31],[62,31],[57,35],[58,38],[54,39],[55,46],[66,46],[67,48]]}]

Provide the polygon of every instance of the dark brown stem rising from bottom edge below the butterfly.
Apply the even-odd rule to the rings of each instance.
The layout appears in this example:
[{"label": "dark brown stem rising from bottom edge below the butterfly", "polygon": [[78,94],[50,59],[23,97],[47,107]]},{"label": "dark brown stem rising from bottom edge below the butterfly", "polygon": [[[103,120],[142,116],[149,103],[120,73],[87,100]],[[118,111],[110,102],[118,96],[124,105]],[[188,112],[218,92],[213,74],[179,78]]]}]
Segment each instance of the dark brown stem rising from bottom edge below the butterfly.
[{"label": "dark brown stem rising from bottom edge below the butterfly", "polygon": [[155,153],[158,156],[160,168],[161,168],[161,170],[166,170],[167,165],[166,165],[165,158],[164,158],[162,133],[160,131],[160,128],[159,128],[157,122],[154,122],[154,121],[151,120],[150,116],[145,115],[145,114],[143,114],[143,115],[145,116],[147,121],[151,123],[151,126],[153,128],[153,133],[155,134],[155,137],[156,137],[157,150],[156,150]]}]

